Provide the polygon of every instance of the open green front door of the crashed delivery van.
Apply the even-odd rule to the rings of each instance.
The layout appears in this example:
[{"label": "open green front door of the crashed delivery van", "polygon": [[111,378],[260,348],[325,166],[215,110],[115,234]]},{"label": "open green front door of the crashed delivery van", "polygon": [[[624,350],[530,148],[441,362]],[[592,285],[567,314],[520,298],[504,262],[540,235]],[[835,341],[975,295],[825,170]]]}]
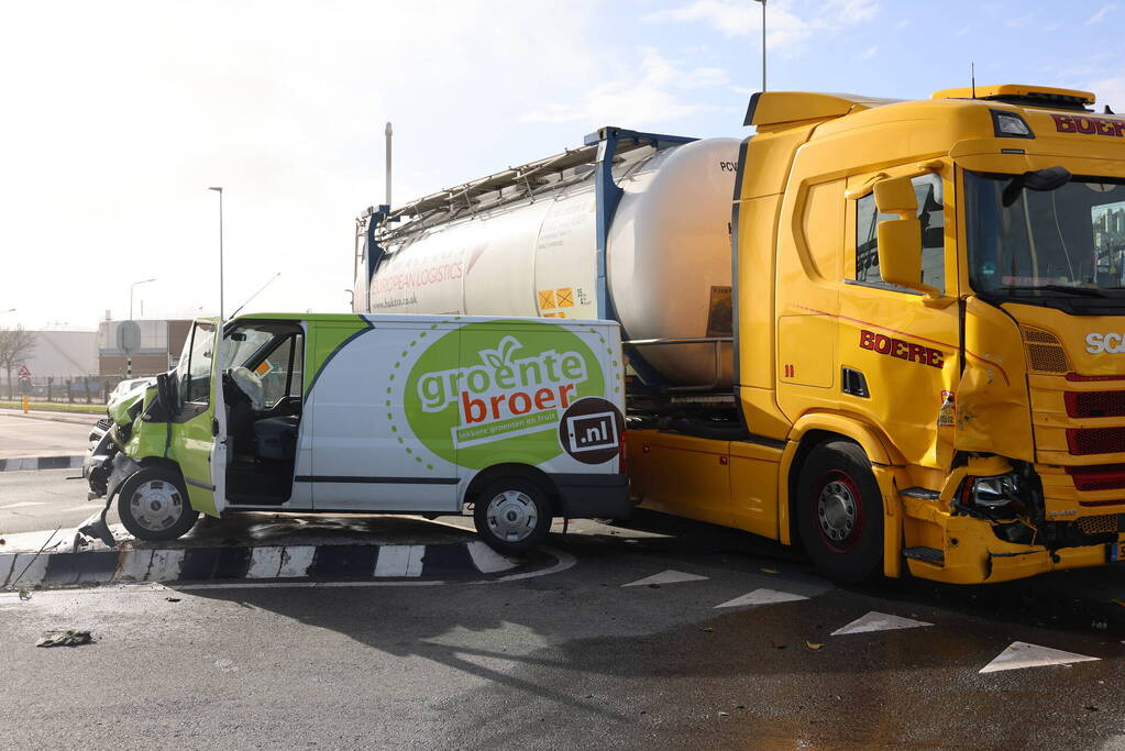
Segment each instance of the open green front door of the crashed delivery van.
[{"label": "open green front door of the crashed delivery van", "polygon": [[179,409],[169,445],[192,508],[212,515],[226,506],[226,408],[216,331],[214,320],[197,320],[191,328],[188,360],[177,369]]}]

